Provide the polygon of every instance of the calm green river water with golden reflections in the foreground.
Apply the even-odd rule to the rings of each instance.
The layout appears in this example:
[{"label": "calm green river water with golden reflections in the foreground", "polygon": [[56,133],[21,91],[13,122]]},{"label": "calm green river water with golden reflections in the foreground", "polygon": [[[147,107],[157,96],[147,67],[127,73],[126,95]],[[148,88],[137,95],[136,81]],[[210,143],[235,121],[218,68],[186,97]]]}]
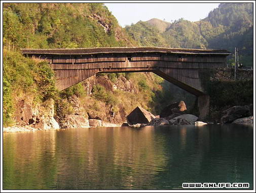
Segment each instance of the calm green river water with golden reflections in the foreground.
[{"label": "calm green river water with golden reflections in the foreground", "polygon": [[4,189],[253,188],[253,129],[232,124],[4,133],[3,153]]}]

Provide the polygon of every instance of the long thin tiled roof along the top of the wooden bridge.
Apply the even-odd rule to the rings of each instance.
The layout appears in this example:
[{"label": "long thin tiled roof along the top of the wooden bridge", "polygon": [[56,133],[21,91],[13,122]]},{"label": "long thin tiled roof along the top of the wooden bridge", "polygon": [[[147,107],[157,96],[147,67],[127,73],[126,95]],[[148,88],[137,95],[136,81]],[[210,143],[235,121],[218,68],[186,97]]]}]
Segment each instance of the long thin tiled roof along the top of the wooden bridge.
[{"label": "long thin tiled roof along the top of the wooden bridge", "polygon": [[92,47],[81,49],[21,49],[22,54],[91,55],[112,53],[170,53],[193,55],[230,55],[227,50],[173,49],[166,47]]}]

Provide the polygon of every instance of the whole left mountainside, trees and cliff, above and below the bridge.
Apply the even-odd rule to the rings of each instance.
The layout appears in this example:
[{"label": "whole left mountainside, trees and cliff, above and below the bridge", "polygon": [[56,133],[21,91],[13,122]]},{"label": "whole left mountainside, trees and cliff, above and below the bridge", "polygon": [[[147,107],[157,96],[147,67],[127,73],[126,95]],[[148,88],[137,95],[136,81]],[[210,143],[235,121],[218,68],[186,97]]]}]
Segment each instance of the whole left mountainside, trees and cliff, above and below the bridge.
[{"label": "whole left mountainside, trees and cliff, above and below the bridge", "polygon": [[163,79],[153,73],[97,74],[58,91],[47,62],[20,54],[20,48],[137,46],[103,4],[4,3],[3,7],[4,126],[28,125],[35,112],[40,123],[49,122],[51,101],[61,126],[89,117],[120,124],[136,106],[159,113],[159,103],[169,102]]}]

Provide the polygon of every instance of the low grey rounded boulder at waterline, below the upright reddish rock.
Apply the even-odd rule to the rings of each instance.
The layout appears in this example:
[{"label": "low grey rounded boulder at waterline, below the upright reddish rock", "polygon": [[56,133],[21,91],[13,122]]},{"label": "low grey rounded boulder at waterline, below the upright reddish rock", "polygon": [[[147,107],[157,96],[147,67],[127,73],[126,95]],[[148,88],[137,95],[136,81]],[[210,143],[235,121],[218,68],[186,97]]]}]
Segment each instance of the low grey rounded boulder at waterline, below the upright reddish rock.
[{"label": "low grey rounded boulder at waterline, below the upright reddish rock", "polygon": [[198,117],[191,114],[180,115],[169,120],[170,125],[194,125]]}]

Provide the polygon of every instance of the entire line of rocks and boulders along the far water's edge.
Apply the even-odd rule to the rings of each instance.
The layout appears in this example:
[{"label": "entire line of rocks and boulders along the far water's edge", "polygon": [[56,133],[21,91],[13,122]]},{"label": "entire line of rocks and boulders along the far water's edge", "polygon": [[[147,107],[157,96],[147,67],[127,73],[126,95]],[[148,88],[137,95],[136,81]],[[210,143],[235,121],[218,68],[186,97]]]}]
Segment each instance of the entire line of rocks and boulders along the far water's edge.
[{"label": "entire line of rocks and boulders along the far water's edge", "polygon": [[[173,103],[155,116],[147,110],[136,107],[126,117],[127,124],[106,122],[101,116],[94,112],[84,114],[78,98],[72,98],[73,113],[69,115],[56,116],[54,114],[54,102],[50,100],[47,106],[32,106],[31,100],[19,101],[16,111],[17,124],[12,127],[4,127],[4,132],[31,132],[49,129],[65,128],[88,128],[88,127],[143,127],[159,125],[195,125],[200,127],[205,124],[212,124],[199,120],[195,115],[189,114],[184,101]],[[61,114],[58,114],[61,115]],[[253,105],[234,106],[222,112],[222,118],[219,124],[234,123],[253,126]],[[121,117],[120,120],[123,119]],[[112,120],[112,119],[109,119]],[[114,120],[114,117],[113,117]],[[114,120],[115,121],[115,120]]]}]

